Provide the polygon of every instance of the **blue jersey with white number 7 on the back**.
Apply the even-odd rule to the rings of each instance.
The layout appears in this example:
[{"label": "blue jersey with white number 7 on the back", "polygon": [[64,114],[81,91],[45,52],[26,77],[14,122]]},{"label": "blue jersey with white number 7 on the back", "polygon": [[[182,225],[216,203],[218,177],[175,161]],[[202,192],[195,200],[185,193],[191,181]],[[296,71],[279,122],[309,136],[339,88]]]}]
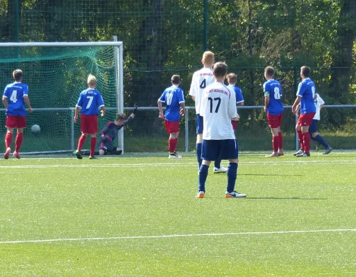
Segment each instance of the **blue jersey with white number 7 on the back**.
[{"label": "blue jersey with white number 7 on the back", "polygon": [[85,89],[80,93],[77,107],[82,108],[80,113],[86,116],[98,114],[99,107],[103,107],[104,101],[100,91],[96,89]]}]

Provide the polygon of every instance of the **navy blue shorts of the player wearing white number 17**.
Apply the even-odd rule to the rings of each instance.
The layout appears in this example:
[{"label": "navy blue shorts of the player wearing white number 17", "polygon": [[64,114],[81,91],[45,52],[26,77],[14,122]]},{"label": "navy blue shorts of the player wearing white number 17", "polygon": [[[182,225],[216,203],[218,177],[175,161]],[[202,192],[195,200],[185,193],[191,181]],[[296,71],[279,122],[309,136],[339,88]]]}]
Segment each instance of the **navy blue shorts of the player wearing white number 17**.
[{"label": "navy blue shorts of the player wearing white number 17", "polygon": [[201,159],[217,161],[217,159],[239,159],[239,145],[236,139],[205,140],[201,145]]}]

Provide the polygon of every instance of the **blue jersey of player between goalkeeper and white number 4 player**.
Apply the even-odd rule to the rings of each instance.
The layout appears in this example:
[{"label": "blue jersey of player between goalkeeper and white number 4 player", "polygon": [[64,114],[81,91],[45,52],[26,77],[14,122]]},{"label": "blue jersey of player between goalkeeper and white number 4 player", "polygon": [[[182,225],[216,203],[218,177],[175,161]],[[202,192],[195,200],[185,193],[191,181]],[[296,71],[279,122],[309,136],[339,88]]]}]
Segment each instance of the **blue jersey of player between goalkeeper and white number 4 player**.
[{"label": "blue jersey of player between goalkeeper and white number 4 player", "polygon": [[180,89],[180,87],[174,85],[167,87],[160,97],[160,102],[165,102],[167,105],[166,112],[164,113],[164,118],[166,120],[173,122],[180,120],[180,103],[185,102],[183,89]]}]

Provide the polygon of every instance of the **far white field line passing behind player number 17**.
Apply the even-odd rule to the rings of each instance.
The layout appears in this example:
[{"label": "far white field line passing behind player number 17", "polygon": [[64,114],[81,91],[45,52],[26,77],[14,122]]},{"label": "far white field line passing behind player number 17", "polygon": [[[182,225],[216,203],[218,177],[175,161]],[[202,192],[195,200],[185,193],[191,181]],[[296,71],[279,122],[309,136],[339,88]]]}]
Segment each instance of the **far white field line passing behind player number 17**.
[{"label": "far white field line passing behind player number 17", "polygon": [[[350,164],[356,163],[356,160],[335,160],[335,161],[241,161],[239,164],[263,164],[270,166],[278,166],[282,163],[287,164],[305,164],[305,163],[321,163],[326,164]],[[183,162],[183,163],[99,163],[99,164],[55,164],[55,165],[24,165],[24,166],[0,166],[1,168],[129,168],[134,166],[191,166],[196,165],[196,162]]]}]

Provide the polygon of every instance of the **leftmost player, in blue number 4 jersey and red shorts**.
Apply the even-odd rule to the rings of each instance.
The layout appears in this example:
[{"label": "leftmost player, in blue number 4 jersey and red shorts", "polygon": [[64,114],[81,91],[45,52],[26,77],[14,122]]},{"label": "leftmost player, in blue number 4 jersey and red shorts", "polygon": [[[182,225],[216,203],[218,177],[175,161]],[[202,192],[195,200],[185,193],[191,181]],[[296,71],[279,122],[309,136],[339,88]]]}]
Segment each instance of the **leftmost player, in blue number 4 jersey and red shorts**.
[{"label": "leftmost player, in blue number 4 jersey and red shorts", "polygon": [[15,139],[15,151],[13,156],[20,159],[19,150],[24,140],[24,128],[26,128],[26,109],[25,103],[28,107],[28,111],[32,111],[30,100],[28,99],[28,87],[22,83],[23,73],[20,69],[16,69],[12,72],[12,77],[15,82],[8,84],[3,91],[3,105],[6,109],[6,127],[8,132],[5,136],[5,154],[4,159],[10,157],[12,134],[14,129],[17,129],[17,135]]}]

